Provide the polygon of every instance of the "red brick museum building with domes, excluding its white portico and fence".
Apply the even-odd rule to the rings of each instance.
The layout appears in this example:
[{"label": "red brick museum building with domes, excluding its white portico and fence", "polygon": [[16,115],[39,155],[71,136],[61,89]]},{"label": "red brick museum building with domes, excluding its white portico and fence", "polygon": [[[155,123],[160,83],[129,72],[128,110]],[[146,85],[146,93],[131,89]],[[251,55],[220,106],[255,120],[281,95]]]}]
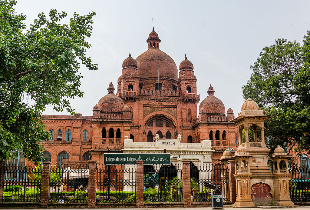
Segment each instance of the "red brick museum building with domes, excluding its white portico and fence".
[{"label": "red brick museum building with domes, excluding its white portico and fence", "polygon": [[238,146],[236,123],[228,122],[234,118],[232,109],[225,114],[224,104],[214,96],[210,85],[197,117],[200,96],[193,64],[185,55],[178,69],[173,59],[159,49],[159,42],[153,29],[147,39],[148,50],[136,59],[129,54],[122,64],[117,90],[111,82],[108,94],[94,106],[93,116],[42,116],[47,131],[54,134],[42,142],[53,164],[68,157],[87,160],[88,154],[103,163],[108,150],[122,152],[125,136],[138,142],[153,142],[156,133],[160,138],[180,134],[181,142],[209,139],[215,150],[213,163],[218,163],[228,147]]}]

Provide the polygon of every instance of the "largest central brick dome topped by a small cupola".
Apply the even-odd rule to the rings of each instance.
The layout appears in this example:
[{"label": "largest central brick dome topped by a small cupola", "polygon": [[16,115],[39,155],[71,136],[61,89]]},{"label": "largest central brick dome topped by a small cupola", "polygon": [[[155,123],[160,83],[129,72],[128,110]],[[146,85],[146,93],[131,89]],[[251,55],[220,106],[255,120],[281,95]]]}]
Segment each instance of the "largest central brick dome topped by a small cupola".
[{"label": "largest central brick dome topped by a small cupola", "polygon": [[[148,35],[148,50],[138,56],[135,60],[138,64],[139,78],[166,78],[178,81],[178,68],[174,60],[159,49],[158,34],[153,31]],[[158,62],[157,62],[158,55]]]}]

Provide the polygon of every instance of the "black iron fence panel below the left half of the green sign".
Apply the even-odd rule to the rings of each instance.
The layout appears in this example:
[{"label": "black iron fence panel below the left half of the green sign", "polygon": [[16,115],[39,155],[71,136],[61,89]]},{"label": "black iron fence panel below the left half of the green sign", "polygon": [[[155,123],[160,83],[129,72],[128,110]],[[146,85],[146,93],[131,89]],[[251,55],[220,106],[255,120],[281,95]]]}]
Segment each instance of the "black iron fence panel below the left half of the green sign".
[{"label": "black iron fence panel below the left half of the green sign", "polygon": [[135,203],[136,165],[97,165],[96,203]]}]

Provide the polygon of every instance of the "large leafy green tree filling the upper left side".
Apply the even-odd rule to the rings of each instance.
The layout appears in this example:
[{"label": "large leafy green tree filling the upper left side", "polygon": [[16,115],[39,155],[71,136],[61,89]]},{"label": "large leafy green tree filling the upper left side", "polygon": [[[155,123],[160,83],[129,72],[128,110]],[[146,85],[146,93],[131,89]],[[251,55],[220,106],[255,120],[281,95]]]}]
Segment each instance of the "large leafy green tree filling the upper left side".
[{"label": "large leafy green tree filling the upper left side", "polygon": [[0,0],[0,159],[11,159],[17,153],[10,151],[23,148],[38,162],[40,142],[49,137],[40,114],[46,105],[73,114],[68,99],[83,96],[80,64],[97,70],[86,57],[95,12],[74,13],[69,24],[60,24],[67,13],[51,9],[26,30],[26,16],[16,14],[16,3]]}]

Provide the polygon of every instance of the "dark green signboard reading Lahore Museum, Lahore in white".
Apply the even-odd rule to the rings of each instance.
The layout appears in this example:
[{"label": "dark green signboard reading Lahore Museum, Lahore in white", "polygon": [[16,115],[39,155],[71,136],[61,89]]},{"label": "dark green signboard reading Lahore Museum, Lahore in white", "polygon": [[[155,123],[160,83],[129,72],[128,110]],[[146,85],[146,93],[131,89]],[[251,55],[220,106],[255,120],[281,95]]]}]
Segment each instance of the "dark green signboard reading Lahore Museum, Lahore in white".
[{"label": "dark green signboard reading Lahore Museum, Lahore in white", "polygon": [[146,164],[168,164],[170,165],[170,154],[120,154],[105,153],[103,164],[127,165],[136,164],[137,160],[143,160]]}]

